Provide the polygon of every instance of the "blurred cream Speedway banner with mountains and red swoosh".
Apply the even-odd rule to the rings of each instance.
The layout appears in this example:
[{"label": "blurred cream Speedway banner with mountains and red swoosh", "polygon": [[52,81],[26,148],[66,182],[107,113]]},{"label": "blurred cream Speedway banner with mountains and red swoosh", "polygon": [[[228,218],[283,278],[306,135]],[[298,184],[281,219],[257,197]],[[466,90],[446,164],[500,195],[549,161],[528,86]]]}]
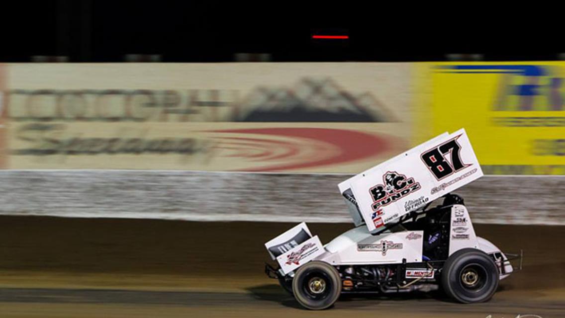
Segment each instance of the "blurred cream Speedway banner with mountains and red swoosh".
[{"label": "blurred cream Speedway banner with mountains and red swoosh", "polygon": [[410,146],[408,63],[7,67],[10,169],[358,172]]}]

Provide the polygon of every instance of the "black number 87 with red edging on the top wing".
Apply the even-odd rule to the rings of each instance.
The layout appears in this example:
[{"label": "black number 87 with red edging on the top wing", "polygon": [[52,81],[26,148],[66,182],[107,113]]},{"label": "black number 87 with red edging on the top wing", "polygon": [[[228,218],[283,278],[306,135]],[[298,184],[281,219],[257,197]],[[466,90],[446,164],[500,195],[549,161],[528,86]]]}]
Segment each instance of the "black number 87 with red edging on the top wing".
[{"label": "black number 87 with red edging on the top wing", "polygon": [[[457,138],[460,136],[461,135],[421,154],[421,159],[437,180],[441,180],[451,175],[451,173],[470,166],[470,164],[464,164],[461,161],[459,155],[461,146],[459,146],[457,142]],[[451,154],[451,163],[445,159],[444,155],[447,153]]]}]

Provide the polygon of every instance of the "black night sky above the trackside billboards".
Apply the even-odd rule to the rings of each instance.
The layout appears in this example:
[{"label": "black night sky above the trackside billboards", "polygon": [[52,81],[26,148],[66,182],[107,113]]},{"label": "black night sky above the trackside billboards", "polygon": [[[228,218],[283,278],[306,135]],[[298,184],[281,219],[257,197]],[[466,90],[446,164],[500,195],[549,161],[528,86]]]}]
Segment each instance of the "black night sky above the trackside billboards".
[{"label": "black night sky above the trackside billboards", "polygon": [[[410,2],[396,8],[369,2],[237,3],[8,1],[1,5],[0,62],[29,62],[32,55],[123,62],[125,54],[160,54],[163,62],[232,62],[236,53],[268,53],[272,62],[438,61],[453,53],[555,60],[565,53],[560,20],[547,12],[494,12],[478,5],[468,11],[466,5],[431,13],[410,8]],[[336,32],[349,40],[311,39],[313,33]]]}]

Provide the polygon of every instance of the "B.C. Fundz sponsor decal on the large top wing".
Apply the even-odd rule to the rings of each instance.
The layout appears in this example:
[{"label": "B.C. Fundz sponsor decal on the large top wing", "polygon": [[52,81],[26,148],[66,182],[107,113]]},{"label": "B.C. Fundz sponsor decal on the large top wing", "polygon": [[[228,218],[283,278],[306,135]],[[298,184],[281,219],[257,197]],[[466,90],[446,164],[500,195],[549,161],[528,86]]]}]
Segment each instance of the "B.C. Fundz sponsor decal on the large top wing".
[{"label": "B.C. Fundz sponsor decal on the large top wing", "polygon": [[419,182],[414,181],[414,178],[407,178],[396,171],[388,171],[383,175],[383,184],[377,184],[369,189],[373,199],[372,209],[377,211],[420,189]]}]

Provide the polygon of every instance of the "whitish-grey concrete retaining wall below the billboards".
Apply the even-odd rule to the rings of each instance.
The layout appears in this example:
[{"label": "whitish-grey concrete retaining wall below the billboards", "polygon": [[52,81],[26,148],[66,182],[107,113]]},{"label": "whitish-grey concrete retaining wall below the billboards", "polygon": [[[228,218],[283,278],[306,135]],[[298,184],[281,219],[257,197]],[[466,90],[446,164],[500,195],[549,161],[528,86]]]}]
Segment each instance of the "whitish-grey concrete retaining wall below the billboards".
[{"label": "whitish-grey concrete retaining wall below the billboards", "polygon": [[[1,171],[0,214],[196,221],[349,222],[349,175]],[[485,176],[456,191],[476,223],[565,225],[565,176]]]}]

